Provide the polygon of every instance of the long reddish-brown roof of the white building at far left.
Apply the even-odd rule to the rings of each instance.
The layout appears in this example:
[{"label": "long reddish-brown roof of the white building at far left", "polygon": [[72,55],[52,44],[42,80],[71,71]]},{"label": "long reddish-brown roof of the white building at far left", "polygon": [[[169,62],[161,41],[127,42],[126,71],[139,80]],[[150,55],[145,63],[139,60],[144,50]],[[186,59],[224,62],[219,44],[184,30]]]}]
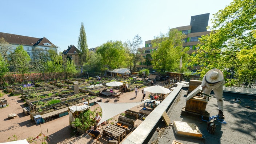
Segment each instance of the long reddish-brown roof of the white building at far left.
[{"label": "long reddish-brown roof of the white building at far left", "polygon": [[0,37],[3,37],[5,41],[9,44],[20,44],[20,45],[43,45],[43,46],[52,46],[56,47],[51,41],[47,38],[36,38],[36,37],[29,37],[29,36],[21,36],[21,35],[14,35],[11,33],[3,33],[0,32]]}]

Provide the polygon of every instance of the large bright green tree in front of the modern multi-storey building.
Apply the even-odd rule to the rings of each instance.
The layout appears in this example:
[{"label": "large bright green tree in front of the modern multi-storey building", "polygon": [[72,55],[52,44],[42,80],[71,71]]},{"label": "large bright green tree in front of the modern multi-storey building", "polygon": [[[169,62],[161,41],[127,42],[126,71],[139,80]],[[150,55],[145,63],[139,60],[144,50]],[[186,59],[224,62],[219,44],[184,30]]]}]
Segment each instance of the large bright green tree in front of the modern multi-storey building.
[{"label": "large bright green tree in front of the modern multi-storey building", "polygon": [[179,72],[180,57],[183,62],[188,59],[188,48],[183,48],[185,34],[177,29],[169,29],[167,34],[161,34],[152,40],[152,47],[157,50],[152,53],[153,69],[160,73],[165,71]]}]

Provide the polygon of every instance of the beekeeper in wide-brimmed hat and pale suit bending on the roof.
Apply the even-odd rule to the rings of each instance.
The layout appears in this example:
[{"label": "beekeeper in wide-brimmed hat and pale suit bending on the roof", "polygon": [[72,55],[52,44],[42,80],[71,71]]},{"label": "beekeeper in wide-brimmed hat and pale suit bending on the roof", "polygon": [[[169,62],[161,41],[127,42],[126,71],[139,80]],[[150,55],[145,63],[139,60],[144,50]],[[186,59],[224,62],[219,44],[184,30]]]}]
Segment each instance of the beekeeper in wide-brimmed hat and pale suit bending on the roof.
[{"label": "beekeeper in wide-brimmed hat and pale suit bending on the roof", "polygon": [[[204,90],[204,93],[209,95],[211,91],[213,90],[219,113],[217,116],[220,117],[220,119],[225,119],[223,115],[223,84],[225,83],[223,72],[220,71],[220,69],[211,69],[209,70],[203,77],[202,80],[202,88]],[[207,100],[208,96],[203,95]]]}]

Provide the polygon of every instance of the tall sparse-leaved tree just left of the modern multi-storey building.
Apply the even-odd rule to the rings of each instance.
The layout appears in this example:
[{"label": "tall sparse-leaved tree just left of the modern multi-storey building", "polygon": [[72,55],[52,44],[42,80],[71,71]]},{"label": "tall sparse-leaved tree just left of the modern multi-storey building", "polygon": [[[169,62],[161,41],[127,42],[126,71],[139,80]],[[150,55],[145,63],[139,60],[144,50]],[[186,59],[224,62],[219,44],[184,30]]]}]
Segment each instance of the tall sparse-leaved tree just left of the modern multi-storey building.
[{"label": "tall sparse-leaved tree just left of the modern multi-storey building", "polygon": [[[137,34],[135,37],[133,37],[132,42],[127,41],[128,43],[128,48],[129,48],[129,56],[131,57],[131,63],[132,63],[132,70],[135,70],[135,67],[139,61],[143,61],[143,51],[144,49],[141,49],[141,44],[142,44],[141,37],[139,34]],[[131,68],[130,68],[131,69]]]}]

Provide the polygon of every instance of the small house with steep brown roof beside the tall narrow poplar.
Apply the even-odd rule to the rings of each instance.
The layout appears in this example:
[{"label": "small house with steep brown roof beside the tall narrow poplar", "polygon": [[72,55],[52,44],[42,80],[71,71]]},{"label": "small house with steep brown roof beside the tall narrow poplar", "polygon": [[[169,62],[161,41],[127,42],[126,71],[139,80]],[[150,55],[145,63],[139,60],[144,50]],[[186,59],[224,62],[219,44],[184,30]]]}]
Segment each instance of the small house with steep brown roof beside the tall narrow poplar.
[{"label": "small house with steep brown roof beside the tall narrow poplar", "polygon": [[74,61],[76,66],[81,66],[81,60],[79,57],[80,51],[74,46],[74,45],[68,45],[68,49],[64,50],[62,55],[63,61],[65,61],[67,58],[70,58]]}]

